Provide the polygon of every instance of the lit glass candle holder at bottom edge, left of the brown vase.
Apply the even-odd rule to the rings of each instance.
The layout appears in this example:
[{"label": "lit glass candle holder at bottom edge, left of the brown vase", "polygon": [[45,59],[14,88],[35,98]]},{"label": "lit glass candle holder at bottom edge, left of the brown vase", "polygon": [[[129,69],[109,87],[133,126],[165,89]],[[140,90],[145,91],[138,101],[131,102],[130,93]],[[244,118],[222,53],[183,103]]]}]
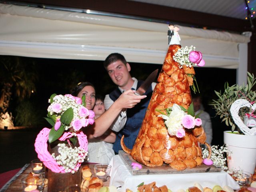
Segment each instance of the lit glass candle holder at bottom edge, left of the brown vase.
[{"label": "lit glass candle holder at bottom edge, left of the brown vase", "polygon": [[23,192],[42,192],[44,188],[43,174],[29,174],[21,179]]}]

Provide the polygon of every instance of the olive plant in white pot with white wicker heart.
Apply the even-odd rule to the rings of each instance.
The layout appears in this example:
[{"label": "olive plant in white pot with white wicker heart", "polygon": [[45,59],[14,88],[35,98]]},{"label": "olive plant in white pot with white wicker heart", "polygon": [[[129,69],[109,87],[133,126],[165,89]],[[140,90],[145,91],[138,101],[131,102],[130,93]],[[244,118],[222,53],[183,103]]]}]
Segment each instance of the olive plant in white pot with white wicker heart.
[{"label": "olive plant in white pot with white wicker heart", "polygon": [[256,92],[252,87],[256,79],[247,72],[247,81],[242,86],[226,83],[223,93],[215,91],[218,98],[210,105],[222,122],[231,127],[230,131],[224,131],[224,143],[230,151],[228,169],[242,169],[253,174],[256,166]]}]

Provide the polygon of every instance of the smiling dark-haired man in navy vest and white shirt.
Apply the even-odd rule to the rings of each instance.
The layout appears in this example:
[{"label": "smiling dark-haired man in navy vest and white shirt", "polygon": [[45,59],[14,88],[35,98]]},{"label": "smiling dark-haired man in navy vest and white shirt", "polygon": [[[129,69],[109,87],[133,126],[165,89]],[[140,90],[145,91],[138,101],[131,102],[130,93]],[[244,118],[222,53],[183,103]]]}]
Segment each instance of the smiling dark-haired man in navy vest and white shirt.
[{"label": "smiling dark-haired man in navy vest and white shirt", "polygon": [[[122,92],[125,90],[137,90],[143,81],[138,81],[136,78],[131,77],[130,64],[126,62],[126,59],[120,53],[110,54],[104,61],[104,67],[111,80],[118,86],[114,91],[105,96],[104,104],[108,111],[116,100],[122,96]],[[152,86],[148,88],[145,93],[146,99],[143,99],[132,108],[124,107],[120,114],[116,116],[116,120],[110,127],[110,129],[116,132],[116,142],[114,142],[113,146],[115,154],[122,150],[120,140],[123,135],[125,145],[132,149],[155,86],[156,83],[152,83]]]}]

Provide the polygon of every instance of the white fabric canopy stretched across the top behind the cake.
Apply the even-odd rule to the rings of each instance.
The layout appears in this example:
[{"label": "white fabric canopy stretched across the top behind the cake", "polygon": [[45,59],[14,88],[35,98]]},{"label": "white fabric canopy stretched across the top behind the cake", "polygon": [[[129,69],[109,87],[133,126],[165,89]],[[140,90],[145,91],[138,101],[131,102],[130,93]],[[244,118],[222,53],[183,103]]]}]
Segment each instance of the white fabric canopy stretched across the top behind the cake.
[{"label": "white fabric canopy stretched across the top behind the cake", "polygon": [[[86,13],[0,4],[0,54],[104,60],[112,52],[128,62],[162,64],[168,24]],[[238,68],[238,44],[250,37],[178,26],[182,46],[196,46],[207,67]],[[246,64],[247,65],[247,64]]]}]

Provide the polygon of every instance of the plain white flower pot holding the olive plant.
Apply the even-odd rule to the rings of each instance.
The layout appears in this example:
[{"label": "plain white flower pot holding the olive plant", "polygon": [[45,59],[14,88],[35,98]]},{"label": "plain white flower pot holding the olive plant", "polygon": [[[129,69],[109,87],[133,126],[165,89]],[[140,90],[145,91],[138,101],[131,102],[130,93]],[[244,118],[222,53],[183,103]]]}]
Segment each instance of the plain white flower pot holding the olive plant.
[{"label": "plain white flower pot holding the olive plant", "polygon": [[228,157],[228,169],[242,169],[253,174],[256,166],[256,136],[224,131],[224,143],[232,152]]}]

